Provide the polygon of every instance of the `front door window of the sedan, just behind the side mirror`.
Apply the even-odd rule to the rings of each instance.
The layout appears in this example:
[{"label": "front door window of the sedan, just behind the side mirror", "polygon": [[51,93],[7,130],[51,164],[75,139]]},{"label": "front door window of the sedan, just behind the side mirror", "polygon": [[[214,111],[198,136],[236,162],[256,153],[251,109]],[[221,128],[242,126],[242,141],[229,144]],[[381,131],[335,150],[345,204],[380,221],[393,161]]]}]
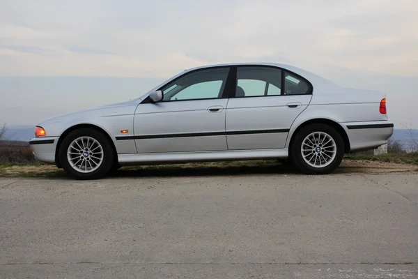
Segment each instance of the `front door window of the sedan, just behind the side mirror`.
[{"label": "front door window of the sedan, just behind the side mirror", "polygon": [[163,101],[222,98],[229,68],[198,70],[170,82],[161,90]]}]

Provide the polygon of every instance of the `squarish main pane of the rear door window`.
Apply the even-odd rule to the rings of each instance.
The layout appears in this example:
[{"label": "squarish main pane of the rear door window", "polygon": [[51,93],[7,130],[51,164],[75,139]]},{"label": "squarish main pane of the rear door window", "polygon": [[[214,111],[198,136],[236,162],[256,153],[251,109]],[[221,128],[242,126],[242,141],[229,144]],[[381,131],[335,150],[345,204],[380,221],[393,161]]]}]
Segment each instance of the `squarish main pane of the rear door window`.
[{"label": "squarish main pane of the rear door window", "polygon": [[281,94],[281,70],[263,66],[237,68],[237,97],[277,96]]}]

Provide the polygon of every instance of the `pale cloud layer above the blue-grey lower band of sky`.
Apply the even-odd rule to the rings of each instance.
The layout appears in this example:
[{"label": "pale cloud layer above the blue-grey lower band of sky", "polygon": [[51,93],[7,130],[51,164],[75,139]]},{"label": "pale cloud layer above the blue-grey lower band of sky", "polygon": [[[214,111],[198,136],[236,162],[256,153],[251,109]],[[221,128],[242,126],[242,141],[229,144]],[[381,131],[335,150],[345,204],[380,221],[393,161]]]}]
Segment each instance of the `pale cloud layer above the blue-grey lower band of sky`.
[{"label": "pale cloud layer above the blue-grey lower band of sky", "polygon": [[0,75],[167,77],[206,63],[270,59],[418,75],[416,10],[415,0],[8,0],[0,43],[49,52],[1,52]]}]

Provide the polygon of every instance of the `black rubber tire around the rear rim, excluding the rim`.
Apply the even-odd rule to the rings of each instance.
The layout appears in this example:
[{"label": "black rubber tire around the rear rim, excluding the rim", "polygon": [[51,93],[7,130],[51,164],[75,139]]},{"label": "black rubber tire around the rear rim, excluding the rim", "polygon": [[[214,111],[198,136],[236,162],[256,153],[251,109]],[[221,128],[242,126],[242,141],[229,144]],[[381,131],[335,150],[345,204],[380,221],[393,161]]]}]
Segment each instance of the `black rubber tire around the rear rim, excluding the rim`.
[{"label": "black rubber tire around the rear rim, excluding the rim", "polygon": [[[334,139],[336,144],[336,156],[332,163],[326,167],[311,167],[304,161],[302,157],[302,151],[300,150],[300,147],[302,146],[304,138],[307,137],[307,135],[315,132],[327,133]],[[337,167],[339,167],[341,161],[343,160],[344,142],[341,135],[331,126],[320,123],[311,124],[309,126],[305,126],[297,132],[297,135],[295,135],[295,141],[291,146],[291,153],[293,162],[302,172],[307,174],[329,174],[330,172],[333,172]]]}]

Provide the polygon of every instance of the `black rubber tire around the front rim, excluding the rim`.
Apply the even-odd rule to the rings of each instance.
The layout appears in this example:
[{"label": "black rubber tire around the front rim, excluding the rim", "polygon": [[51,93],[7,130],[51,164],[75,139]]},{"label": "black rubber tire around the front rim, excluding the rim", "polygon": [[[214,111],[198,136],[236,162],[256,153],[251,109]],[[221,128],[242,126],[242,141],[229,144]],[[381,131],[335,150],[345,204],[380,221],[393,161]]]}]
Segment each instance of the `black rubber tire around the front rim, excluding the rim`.
[{"label": "black rubber tire around the front rim, excluding the rim", "polygon": [[[97,140],[103,149],[103,161],[98,169],[95,169],[94,172],[90,173],[82,173],[77,172],[77,170],[73,169],[68,162],[67,152],[68,146],[70,146],[71,142],[78,137],[92,137],[93,139]],[[111,147],[111,142],[107,139],[106,135],[102,132],[95,130],[93,128],[80,128],[70,132],[68,135],[65,136],[63,142],[61,143],[59,149],[59,160],[64,169],[64,171],[70,176],[74,177],[75,179],[100,179],[105,176],[111,167],[114,165],[114,150]]]}]

